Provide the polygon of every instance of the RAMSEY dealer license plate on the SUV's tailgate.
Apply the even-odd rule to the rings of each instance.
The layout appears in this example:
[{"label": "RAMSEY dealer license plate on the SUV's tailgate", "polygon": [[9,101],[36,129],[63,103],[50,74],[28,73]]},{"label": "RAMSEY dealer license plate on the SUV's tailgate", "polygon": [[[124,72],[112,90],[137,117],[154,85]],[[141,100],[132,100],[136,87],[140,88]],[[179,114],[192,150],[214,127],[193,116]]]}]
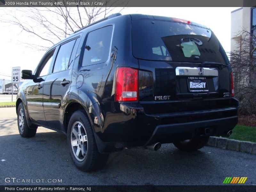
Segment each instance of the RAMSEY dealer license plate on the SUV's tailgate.
[{"label": "RAMSEY dealer license plate on the SUV's tailgate", "polygon": [[189,92],[208,92],[206,77],[188,77]]}]

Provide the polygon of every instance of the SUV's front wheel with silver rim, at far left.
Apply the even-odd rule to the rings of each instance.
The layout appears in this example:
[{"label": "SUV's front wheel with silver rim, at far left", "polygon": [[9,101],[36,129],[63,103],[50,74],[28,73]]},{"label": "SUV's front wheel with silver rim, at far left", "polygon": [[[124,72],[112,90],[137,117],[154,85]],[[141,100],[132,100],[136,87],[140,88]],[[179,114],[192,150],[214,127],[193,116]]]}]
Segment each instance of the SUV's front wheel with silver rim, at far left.
[{"label": "SUV's front wheel with silver rim, at far left", "polygon": [[22,102],[20,103],[17,112],[17,123],[21,137],[34,137],[36,135],[37,126],[28,126],[26,113]]}]

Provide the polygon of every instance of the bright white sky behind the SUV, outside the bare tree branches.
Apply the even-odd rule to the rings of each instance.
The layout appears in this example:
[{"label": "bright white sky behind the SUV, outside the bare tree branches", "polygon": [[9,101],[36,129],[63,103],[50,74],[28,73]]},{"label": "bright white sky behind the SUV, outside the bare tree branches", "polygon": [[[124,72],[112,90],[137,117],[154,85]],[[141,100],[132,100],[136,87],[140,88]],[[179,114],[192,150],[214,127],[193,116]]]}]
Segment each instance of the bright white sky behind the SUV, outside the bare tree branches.
[{"label": "bright white sky behind the SUV, outside the bare tree branches", "polygon": [[[226,52],[230,51],[231,11],[239,7],[127,7],[121,13],[141,13],[176,17],[206,25],[212,29]],[[0,17],[4,8],[0,8]],[[34,70],[44,55],[44,51],[34,51],[25,44],[32,38],[26,32],[20,33],[16,26],[0,23],[0,79],[11,79],[12,67]],[[40,44],[40,41],[36,42]],[[3,74],[7,76],[3,76]]]}]

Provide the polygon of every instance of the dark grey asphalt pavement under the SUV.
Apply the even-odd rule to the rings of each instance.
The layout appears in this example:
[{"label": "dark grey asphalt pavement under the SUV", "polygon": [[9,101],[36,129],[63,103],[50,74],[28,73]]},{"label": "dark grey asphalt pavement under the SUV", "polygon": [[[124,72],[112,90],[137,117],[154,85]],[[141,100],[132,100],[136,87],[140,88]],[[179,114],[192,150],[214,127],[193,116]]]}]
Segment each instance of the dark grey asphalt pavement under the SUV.
[{"label": "dark grey asphalt pavement under the SUV", "polygon": [[65,135],[39,127],[35,137],[22,138],[16,118],[15,108],[0,108],[0,185],[222,185],[226,177],[256,185],[256,155],[213,147],[182,152],[173,144],[124,149],[100,171],[81,172]]}]

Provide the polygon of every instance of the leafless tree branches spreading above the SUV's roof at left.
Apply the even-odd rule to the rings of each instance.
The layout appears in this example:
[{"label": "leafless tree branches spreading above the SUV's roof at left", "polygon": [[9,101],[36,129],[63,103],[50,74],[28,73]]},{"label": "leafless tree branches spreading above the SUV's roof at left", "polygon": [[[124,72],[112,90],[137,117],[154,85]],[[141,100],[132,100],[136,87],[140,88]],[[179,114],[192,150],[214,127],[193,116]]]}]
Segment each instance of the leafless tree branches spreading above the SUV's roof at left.
[{"label": "leafless tree branches spreading above the SUV's roof at left", "polygon": [[[99,0],[104,6],[76,6],[67,7],[54,5],[54,7],[23,7],[5,9],[5,14],[0,18],[0,22],[15,25],[21,29],[21,32],[43,40],[44,44],[28,44],[29,47],[36,50],[47,50],[50,46],[61,39],[74,33],[76,30],[91,24],[92,22],[105,18],[113,12],[121,12],[124,7],[119,6],[124,3],[123,0],[117,0],[114,3],[111,0]],[[80,2],[75,0],[74,2]],[[63,4],[65,5],[64,1]],[[42,41],[41,41],[42,42]]]}]

